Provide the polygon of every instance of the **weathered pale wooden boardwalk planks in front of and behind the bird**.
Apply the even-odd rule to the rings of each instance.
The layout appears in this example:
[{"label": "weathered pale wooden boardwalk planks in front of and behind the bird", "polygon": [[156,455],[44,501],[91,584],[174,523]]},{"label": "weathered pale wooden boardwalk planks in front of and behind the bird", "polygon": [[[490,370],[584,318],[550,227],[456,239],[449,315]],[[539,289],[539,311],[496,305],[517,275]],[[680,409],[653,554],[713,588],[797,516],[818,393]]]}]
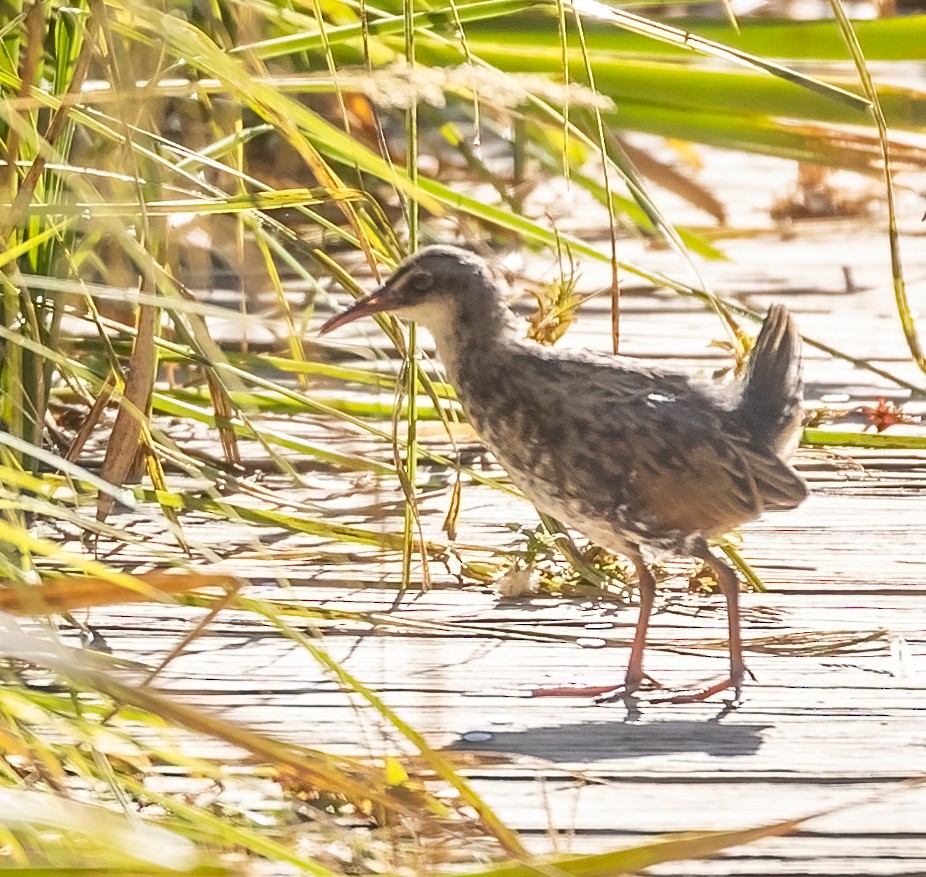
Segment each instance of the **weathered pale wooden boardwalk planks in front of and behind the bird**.
[{"label": "weathered pale wooden boardwalk planks in front of and behind the bird", "polygon": [[[722,163],[714,172],[724,173]],[[738,261],[705,271],[721,293],[758,308],[785,300],[808,335],[922,384],[905,357],[886,236],[876,225],[828,227],[817,238],[811,229],[799,241],[733,241],[725,248]],[[666,254],[627,246],[627,258],[668,267]],[[910,292],[919,305],[926,302],[921,240],[910,252]],[[599,268],[583,268],[584,283],[594,287]],[[692,302],[637,295],[630,286],[625,352],[702,371],[726,364],[706,346],[718,334],[711,316]],[[567,343],[607,349],[602,305],[585,313]],[[358,324],[355,331],[359,340],[374,330]],[[830,405],[907,396],[813,350],[806,377],[808,397]],[[369,447],[363,436],[319,430],[317,421],[286,427],[332,447]],[[388,458],[388,448],[376,452]],[[744,595],[746,654],[757,681],[732,711],[721,702],[628,709],[532,697],[545,683],[619,681],[636,610],[616,599],[506,599],[461,584],[436,563],[433,590],[398,599],[394,556],[195,516],[185,526],[191,540],[227,555],[226,568],[248,577],[255,595],[393,618],[375,626],[320,622],[318,629],[331,655],[432,746],[470,754],[476,788],[533,849],[603,850],[666,832],[742,828],[841,808],[792,836],[653,871],[926,874],[926,788],[900,787],[926,772],[926,452],[804,450],[798,465],[813,487],[809,501],[743,533],[743,553],[768,592]],[[287,496],[352,523],[396,529],[394,484],[307,471],[306,485],[287,487]],[[439,539],[449,481],[446,472],[424,471],[433,476],[422,500],[425,528]],[[508,521],[533,526],[536,518],[526,503],[466,485],[460,542],[512,544]],[[169,542],[151,524],[138,528],[149,531],[151,546]],[[130,565],[146,559],[136,549],[120,557]],[[726,636],[720,600],[688,593],[684,564],[668,572],[647,669],[669,687],[718,677]],[[155,663],[201,614],[132,606],[95,611],[92,621],[116,654]],[[413,630],[408,620],[432,626]],[[159,685],[313,748],[358,755],[408,749],[302,649],[243,613],[221,613]]]}]

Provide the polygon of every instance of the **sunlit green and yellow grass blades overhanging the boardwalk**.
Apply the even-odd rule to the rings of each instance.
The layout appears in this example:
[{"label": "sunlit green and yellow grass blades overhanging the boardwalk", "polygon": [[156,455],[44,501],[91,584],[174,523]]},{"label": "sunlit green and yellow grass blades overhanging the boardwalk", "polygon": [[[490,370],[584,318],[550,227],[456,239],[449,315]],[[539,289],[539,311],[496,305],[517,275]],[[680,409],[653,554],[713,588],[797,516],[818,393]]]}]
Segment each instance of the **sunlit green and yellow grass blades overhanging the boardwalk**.
[{"label": "sunlit green and yellow grass blades overhanging the boardwalk", "polygon": [[[306,331],[316,304],[335,291],[360,294],[366,281],[358,276],[373,282],[419,241],[458,229],[576,261],[609,261],[615,279],[633,275],[718,313],[756,316],[619,258],[625,233],[661,239],[681,272],[695,256],[719,254],[663,215],[621,136],[650,132],[868,173],[879,170],[890,145],[899,166],[921,167],[920,151],[890,144],[884,126],[880,138],[863,126],[875,106],[892,130],[917,130],[922,92],[859,88],[848,65],[838,78],[819,79],[815,57],[842,57],[835,27],[819,23],[744,21],[735,35],[598,4],[541,10],[527,0],[431,9],[222,0],[167,9],[136,0],[7,5],[0,22],[4,864],[34,873],[223,874],[246,871],[249,857],[259,857],[319,877],[358,867],[407,873],[425,861],[421,838],[436,836],[454,845],[458,861],[473,838],[484,844],[463,867],[473,877],[537,870],[603,877],[793,830],[796,822],[775,823],[597,856],[530,857],[454,756],[434,750],[313,638],[343,620],[441,634],[462,625],[259,599],[226,571],[239,562],[226,546],[204,545],[187,520],[196,514],[230,529],[300,534],[329,564],[345,546],[373,549],[398,561],[394,584],[423,584],[427,559],[452,552],[471,578],[484,580],[516,561],[518,550],[452,538],[461,487],[516,491],[416,432],[431,421],[452,435],[461,412],[413,331],[381,317],[375,349],[321,342]],[[860,26],[859,67],[860,52],[869,60],[912,57],[926,24],[903,24]],[[679,42],[688,28],[701,34],[686,40],[697,53]],[[814,47],[812,57],[795,49],[798,34]],[[506,161],[487,157],[490,143],[510,150],[510,172]],[[442,173],[449,159],[465,171]],[[429,160],[437,171],[425,172]],[[602,205],[610,246],[525,213],[517,166],[526,161],[543,175],[568,177]],[[229,276],[220,283],[223,267]],[[233,305],[215,298],[219,286],[234,293]],[[551,289],[536,328],[554,341],[575,302],[568,278]],[[603,293],[616,301],[616,289]],[[901,307],[901,317],[915,337],[909,310]],[[394,354],[404,371],[393,369]],[[923,446],[920,437],[824,429],[805,438]],[[421,534],[419,462],[451,473],[441,494],[446,539]],[[396,497],[402,479],[404,512],[398,502],[385,520],[345,520],[308,490],[318,475],[348,485],[357,479],[368,493],[361,480],[378,479]],[[164,538],[124,526],[120,510]],[[544,544],[583,580],[614,573],[568,539]],[[256,537],[254,545],[251,558],[289,560]],[[152,568],[136,570],[120,556],[128,549],[143,552]],[[732,545],[726,550],[736,559]],[[748,576],[745,561],[740,567]],[[198,613],[199,623],[156,667],[76,648],[49,623],[63,617],[80,628],[92,607],[144,602],[179,602]],[[159,691],[163,667],[231,611],[289,637],[409,753],[333,756]],[[508,629],[494,635],[568,641]],[[90,642],[92,631],[83,636]],[[204,740],[228,757],[190,754]],[[171,785],[165,777],[179,779]],[[253,784],[278,805],[272,817],[241,805]],[[457,797],[439,794],[447,790]],[[306,806],[316,818],[309,832],[296,815]],[[369,857],[359,866],[325,852],[354,848],[358,837]],[[477,866],[484,853],[497,864]]]}]

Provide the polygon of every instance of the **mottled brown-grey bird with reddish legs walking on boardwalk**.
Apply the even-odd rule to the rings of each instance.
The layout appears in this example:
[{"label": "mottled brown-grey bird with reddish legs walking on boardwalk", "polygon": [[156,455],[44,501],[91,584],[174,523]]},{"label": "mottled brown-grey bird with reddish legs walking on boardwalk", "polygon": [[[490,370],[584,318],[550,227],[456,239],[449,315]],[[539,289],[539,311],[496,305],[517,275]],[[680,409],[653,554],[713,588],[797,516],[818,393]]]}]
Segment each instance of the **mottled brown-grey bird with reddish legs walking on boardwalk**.
[{"label": "mottled brown-grey bird with reddish legs walking on boardwalk", "polygon": [[665,555],[701,560],[725,598],[729,673],[686,703],[732,691],[746,674],[739,580],[710,541],[808,495],[789,465],[803,395],[801,337],[772,305],[735,384],[699,381],[638,360],[542,346],[525,337],[487,262],[433,245],[320,329],[388,312],[423,325],[476,432],[538,511],[629,559],[639,618],[623,682],[586,689],[605,703],[658,686],[643,670]]}]

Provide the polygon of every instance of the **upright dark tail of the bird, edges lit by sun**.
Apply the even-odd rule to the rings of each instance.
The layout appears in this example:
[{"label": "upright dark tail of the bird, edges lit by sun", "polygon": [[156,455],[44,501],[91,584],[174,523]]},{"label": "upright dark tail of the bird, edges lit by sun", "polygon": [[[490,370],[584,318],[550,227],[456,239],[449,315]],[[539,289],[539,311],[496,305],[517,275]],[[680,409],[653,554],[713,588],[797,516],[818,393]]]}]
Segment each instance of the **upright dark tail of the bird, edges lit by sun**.
[{"label": "upright dark tail of the bird, edges lit by sun", "polygon": [[797,446],[801,422],[801,336],[787,308],[772,305],[749,358],[740,421],[781,457]]}]

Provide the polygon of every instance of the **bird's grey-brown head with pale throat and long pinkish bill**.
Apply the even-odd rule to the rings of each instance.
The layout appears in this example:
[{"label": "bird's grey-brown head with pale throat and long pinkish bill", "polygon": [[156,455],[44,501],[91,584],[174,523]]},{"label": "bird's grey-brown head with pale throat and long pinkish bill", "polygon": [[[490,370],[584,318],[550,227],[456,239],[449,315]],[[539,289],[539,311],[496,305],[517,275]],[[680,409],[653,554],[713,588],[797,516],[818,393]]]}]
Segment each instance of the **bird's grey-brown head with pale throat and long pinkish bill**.
[{"label": "bird's grey-brown head with pale throat and long pinkish bill", "polygon": [[489,321],[501,296],[486,263],[459,247],[425,247],[405,259],[382,286],[321,327],[325,334],[359,317],[388,312],[440,333],[473,319]]}]

